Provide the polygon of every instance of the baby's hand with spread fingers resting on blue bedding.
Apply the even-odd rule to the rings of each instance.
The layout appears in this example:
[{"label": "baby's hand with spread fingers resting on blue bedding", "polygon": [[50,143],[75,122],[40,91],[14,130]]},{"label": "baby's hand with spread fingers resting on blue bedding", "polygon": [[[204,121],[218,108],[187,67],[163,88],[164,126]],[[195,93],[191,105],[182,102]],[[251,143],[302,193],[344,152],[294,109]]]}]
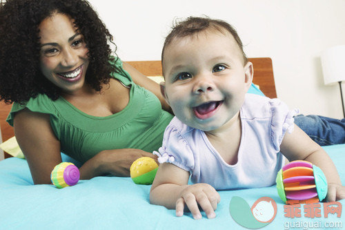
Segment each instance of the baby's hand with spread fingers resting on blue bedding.
[{"label": "baby's hand with spread fingers resting on blue bedding", "polygon": [[210,184],[191,184],[181,191],[176,201],[176,215],[184,215],[185,204],[195,220],[201,219],[199,206],[205,211],[207,218],[215,218],[215,209],[220,201],[220,195]]}]

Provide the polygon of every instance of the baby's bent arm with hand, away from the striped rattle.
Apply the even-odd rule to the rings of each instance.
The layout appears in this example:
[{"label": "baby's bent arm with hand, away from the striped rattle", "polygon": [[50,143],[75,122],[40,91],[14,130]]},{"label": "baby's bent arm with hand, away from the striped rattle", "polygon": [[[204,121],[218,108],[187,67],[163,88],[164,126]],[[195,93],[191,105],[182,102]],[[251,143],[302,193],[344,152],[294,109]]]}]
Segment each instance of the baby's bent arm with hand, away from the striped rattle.
[{"label": "baby's bent arm with hand, away from the striped rattle", "polygon": [[183,215],[187,207],[193,218],[201,219],[199,204],[208,218],[215,218],[219,193],[210,184],[188,184],[188,179],[188,171],[174,164],[160,164],[150,191],[151,204],[176,209],[177,216]]}]

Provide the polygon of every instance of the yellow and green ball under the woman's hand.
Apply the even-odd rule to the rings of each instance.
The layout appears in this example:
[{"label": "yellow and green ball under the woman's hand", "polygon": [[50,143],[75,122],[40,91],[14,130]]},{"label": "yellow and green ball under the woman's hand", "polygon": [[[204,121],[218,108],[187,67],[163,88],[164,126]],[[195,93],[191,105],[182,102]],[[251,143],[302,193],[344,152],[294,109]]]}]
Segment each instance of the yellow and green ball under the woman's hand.
[{"label": "yellow and green ball under the woman's hand", "polygon": [[152,184],[158,164],[151,157],[140,157],[130,166],[130,177],[135,184]]}]

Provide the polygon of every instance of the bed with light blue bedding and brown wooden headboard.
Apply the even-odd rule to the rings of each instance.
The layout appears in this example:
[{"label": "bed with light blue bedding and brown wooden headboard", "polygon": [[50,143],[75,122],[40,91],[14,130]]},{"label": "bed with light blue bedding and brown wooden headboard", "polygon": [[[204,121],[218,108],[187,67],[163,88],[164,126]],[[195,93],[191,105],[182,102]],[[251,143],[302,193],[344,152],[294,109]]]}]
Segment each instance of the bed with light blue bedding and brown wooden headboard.
[{"label": "bed with light blue bedding and brown wooden headboard", "polygon": [[[252,90],[276,97],[272,60],[255,58],[250,61],[255,69],[254,83],[260,89],[253,87]],[[147,76],[161,75],[160,61],[128,62]],[[10,106],[1,102],[3,140],[13,136],[12,128],[4,122],[9,109]],[[324,149],[335,162],[342,184],[345,184],[345,144]],[[80,165],[67,155],[61,155],[63,161]],[[262,197],[274,200],[277,214],[269,223],[248,225],[247,228],[256,229],[267,224],[266,229],[345,228],[342,215],[345,200],[320,203],[319,207],[312,208],[308,204],[287,206],[279,198],[275,186],[219,191],[221,202],[216,210],[217,217],[210,220],[205,215],[201,220],[193,220],[189,213],[177,218],[175,210],[150,204],[149,191],[150,185],[110,176],[79,180],[77,185],[64,189],[50,184],[33,185],[26,160],[6,155],[6,159],[0,161],[0,229],[246,229],[242,225],[250,222],[250,216],[242,222],[238,216],[246,217],[248,207]],[[237,202],[241,205],[234,206],[238,200],[242,201]]]}]

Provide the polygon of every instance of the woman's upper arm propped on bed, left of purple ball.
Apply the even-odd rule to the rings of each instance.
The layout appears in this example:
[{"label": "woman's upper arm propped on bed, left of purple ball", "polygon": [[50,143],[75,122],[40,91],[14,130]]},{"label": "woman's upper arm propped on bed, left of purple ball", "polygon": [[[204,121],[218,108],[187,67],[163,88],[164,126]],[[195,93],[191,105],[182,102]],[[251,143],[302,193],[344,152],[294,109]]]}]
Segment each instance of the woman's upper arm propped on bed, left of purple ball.
[{"label": "woman's upper arm propped on bed, left of purple ball", "polygon": [[34,184],[50,184],[50,173],[61,163],[61,153],[49,115],[24,108],[14,116],[14,133],[28,161]]}]

